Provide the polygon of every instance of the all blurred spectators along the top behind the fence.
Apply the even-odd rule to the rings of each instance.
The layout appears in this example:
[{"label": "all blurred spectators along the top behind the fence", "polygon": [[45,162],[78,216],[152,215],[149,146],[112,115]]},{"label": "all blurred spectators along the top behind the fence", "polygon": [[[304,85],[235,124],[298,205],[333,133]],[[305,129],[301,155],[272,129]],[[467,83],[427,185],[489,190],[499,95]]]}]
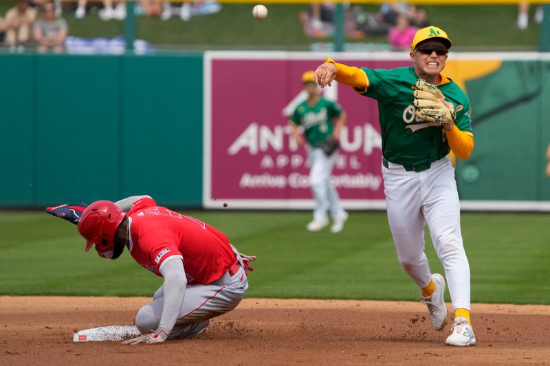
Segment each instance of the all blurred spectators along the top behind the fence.
[{"label": "all blurred spectators along the top behind the fence", "polygon": [[[1,1],[1,0],[0,0]],[[39,52],[63,52],[67,37],[67,22],[63,13],[74,14],[83,19],[94,12],[100,19],[123,20],[126,18],[126,2],[118,0],[13,0],[14,6],[0,14],[0,47],[11,52],[23,52],[27,47],[36,47]],[[192,16],[213,14],[221,10],[214,0],[158,1],[136,0],[135,14],[154,16],[163,21],[179,16],[188,21]],[[307,36],[325,38],[333,36],[336,3],[325,1],[311,3],[309,11],[300,13]],[[541,23],[542,6],[538,5],[533,19]],[[406,1],[382,3],[377,12],[365,12],[360,5],[344,3],[344,29],[348,38],[365,39],[387,37],[391,49],[408,49],[415,32],[427,27],[426,8]],[[518,29],[529,25],[529,2],[518,5]]]}]

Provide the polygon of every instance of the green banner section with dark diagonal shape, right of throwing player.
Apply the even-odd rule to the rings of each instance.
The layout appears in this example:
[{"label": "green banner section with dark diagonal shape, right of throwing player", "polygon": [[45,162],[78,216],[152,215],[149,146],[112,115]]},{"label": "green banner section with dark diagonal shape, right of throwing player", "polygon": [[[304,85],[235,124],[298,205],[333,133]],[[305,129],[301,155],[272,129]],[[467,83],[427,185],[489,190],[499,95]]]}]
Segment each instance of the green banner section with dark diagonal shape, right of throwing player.
[{"label": "green banner section with dark diagonal shape, right of throwing player", "polygon": [[467,82],[476,145],[457,165],[461,199],[550,198],[550,177],[544,173],[549,82],[547,61],[505,61],[498,71]]}]

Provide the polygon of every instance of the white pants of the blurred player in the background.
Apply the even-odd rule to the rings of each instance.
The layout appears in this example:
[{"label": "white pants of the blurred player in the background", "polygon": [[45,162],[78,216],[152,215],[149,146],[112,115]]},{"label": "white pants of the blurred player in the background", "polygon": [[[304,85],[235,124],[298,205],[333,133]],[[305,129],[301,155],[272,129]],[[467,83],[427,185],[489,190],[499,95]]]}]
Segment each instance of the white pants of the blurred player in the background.
[{"label": "white pants of the blurred player in the background", "polygon": [[308,146],[307,153],[311,164],[309,171],[311,192],[315,199],[314,219],[327,220],[327,211],[329,210],[333,219],[344,217],[346,212],[340,205],[338,192],[331,181],[332,168],[338,151],[327,157],[320,148]]}]

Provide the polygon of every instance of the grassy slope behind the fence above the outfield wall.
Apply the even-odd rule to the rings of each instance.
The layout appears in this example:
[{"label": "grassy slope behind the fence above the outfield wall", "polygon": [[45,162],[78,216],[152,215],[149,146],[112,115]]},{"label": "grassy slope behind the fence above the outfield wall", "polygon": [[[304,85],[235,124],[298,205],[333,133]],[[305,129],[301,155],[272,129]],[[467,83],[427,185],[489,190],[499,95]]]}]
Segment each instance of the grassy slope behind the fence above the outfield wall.
[{"label": "grassy slope behind the fence above the outfield wall", "polygon": [[[443,2],[443,1],[442,1]],[[0,0],[0,14],[14,1]],[[217,14],[194,16],[181,21],[173,16],[168,21],[140,16],[137,37],[163,47],[179,49],[309,49],[312,43],[331,42],[331,38],[309,38],[303,34],[298,14],[307,4],[269,5],[270,15],[263,21],[252,17],[251,4],[223,4]],[[362,6],[366,12],[377,12],[378,5]],[[527,30],[516,27],[517,5],[429,5],[428,19],[448,32],[457,50],[509,51],[536,50],[540,25],[533,21],[536,5],[529,8]],[[101,21],[89,12],[76,19],[72,10],[63,17],[69,24],[69,35],[112,37],[123,33],[122,21]],[[360,43],[386,43],[385,36],[367,36]]]}]

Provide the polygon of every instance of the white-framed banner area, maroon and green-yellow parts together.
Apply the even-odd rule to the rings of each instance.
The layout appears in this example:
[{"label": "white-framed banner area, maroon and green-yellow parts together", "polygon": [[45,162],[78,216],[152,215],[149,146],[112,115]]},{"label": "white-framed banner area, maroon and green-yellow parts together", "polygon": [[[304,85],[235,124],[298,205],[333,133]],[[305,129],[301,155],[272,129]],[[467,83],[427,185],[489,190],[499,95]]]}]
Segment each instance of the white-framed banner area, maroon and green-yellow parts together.
[{"label": "white-framed banner area, maroon and green-yellow parts together", "polygon": [[[300,77],[326,54],[207,52],[203,205],[311,208],[309,166],[289,115],[305,100]],[[340,54],[373,69],[410,66],[408,54]],[[452,54],[444,75],[467,93],[475,147],[454,159],[465,210],[550,211],[550,58],[546,54]],[[374,100],[334,83],[322,89],[347,113],[333,169],[347,209],[383,209],[382,139]],[[410,115],[404,112],[406,121]]]}]

